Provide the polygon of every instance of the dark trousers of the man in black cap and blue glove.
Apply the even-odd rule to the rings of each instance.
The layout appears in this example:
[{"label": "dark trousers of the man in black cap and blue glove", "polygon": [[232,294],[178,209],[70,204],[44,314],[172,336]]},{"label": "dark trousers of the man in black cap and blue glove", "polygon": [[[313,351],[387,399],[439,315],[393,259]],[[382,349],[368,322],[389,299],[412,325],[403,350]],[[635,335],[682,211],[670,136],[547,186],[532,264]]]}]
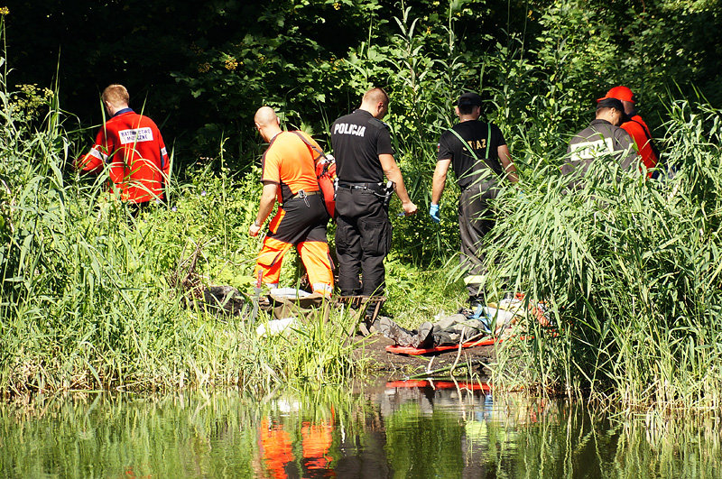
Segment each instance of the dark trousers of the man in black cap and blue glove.
[{"label": "dark trousers of the man in black cap and blue glove", "polygon": [[459,263],[464,272],[470,299],[483,299],[486,283],[486,253],[482,239],[494,227],[494,216],[489,200],[495,198],[496,190],[469,187],[461,192],[458,200],[458,228],[461,235]]}]

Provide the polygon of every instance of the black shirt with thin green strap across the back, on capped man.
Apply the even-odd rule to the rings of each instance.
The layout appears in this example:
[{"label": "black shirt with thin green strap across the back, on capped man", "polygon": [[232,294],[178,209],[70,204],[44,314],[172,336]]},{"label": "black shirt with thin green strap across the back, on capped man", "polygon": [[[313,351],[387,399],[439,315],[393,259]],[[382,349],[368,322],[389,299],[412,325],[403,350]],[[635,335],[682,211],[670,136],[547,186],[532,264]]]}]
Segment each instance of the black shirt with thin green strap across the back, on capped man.
[{"label": "black shirt with thin green strap across the back, on capped man", "polygon": [[[490,123],[486,124],[478,120],[467,120],[466,122],[455,124],[452,128],[460,134],[467,143],[461,143],[456,134],[447,130],[441,134],[436,158],[438,161],[451,160],[451,168],[454,170],[460,189],[468,188],[469,185],[477,180],[478,173],[489,168],[499,177],[504,175],[504,168],[502,168],[499,162],[499,153],[496,151],[496,148],[503,146],[506,142],[498,126]],[[488,145],[486,144],[487,142]],[[476,161],[474,155],[469,152],[469,148],[476,153],[478,161]],[[486,156],[487,151],[488,158]]]}]

